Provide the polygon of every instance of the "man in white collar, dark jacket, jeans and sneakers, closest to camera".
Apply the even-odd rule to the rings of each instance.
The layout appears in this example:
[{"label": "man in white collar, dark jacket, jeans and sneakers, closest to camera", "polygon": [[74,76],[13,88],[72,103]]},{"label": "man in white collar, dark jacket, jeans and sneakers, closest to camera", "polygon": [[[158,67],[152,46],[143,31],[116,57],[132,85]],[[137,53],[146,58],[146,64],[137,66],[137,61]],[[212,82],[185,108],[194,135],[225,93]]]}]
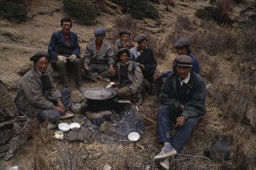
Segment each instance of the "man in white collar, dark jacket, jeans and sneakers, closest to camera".
[{"label": "man in white collar, dark jacket, jeans and sneakers, closest to camera", "polygon": [[[204,79],[192,71],[192,58],[180,55],[175,58],[175,63],[177,71],[169,74],[163,84],[163,106],[157,111],[157,141],[164,147],[154,160],[160,161],[166,170],[169,170],[169,156],[182,150],[200,116],[206,113]],[[177,132],[170,136],[169,132],[174,128],[172,121]]]}]

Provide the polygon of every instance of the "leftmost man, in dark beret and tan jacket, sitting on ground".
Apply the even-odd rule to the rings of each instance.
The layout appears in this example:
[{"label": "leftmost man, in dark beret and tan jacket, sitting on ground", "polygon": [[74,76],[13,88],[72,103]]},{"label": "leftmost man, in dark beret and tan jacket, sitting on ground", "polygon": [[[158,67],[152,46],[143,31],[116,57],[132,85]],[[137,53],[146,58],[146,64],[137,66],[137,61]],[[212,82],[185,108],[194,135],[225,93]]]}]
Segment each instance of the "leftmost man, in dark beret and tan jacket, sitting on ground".
[{"label": "leftmost man, in dark beret and tan jacket, sitting on ground", "polygon": [[15,104],[27,116],[57,122],[67,110],[71,91],[68,88],[58,91],[52,82],[47,72],[47,52],[37,52],[30,57],[30,61],[33,61],[34,67],[19,80]]}]

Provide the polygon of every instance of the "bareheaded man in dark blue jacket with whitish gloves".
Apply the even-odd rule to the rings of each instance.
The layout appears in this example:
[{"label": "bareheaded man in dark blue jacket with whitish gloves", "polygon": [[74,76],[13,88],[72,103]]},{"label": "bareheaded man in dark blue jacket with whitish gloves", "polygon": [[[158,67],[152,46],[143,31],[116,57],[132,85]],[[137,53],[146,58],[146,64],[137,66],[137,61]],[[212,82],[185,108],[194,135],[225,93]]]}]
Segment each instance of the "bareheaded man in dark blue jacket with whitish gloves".
[{"label": "bareheaded man in dark blue jacket with whitish gloves", "polygon": [[83,91],[84,87],[82,86],[81,75],[82,63],[79,58],[80,47],[77,34],[70,31],[72,28],[72,20],[69,17],[62,18],[61,27],[62,30],[52,34],[48,45],[52,68],[58,70],[65,88],[69,88],[67,68],[74,68],[76,88],[78,88],[79,91]]}]

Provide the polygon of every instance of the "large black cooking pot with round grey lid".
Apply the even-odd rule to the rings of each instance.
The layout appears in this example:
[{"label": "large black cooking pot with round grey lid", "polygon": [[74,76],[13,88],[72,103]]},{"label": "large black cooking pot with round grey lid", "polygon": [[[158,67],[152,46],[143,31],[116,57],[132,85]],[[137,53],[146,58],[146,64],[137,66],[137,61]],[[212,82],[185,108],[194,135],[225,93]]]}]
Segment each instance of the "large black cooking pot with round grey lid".
[{"label": "large black cooking pot with round grey lid", "polygon": [[111,88],[88,88],[82,91],[90,111],[107,111],[114,107],[116,91]]}]

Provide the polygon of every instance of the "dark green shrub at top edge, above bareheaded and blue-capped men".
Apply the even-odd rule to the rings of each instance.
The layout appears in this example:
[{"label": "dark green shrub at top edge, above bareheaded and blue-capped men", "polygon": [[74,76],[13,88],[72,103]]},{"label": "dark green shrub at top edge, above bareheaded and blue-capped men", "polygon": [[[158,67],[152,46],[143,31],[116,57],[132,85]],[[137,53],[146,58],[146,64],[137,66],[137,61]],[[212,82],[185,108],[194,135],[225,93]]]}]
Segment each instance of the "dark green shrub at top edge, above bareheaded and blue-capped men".
[{"label": "dark green shrub at top edge, above bareheaded and blue-capped men", "polygon": [[100,15],[99,10],[80,0],[63,0],[63,5],[70,17],[75,17],[81,25],[95,24],[96,16]]}]

